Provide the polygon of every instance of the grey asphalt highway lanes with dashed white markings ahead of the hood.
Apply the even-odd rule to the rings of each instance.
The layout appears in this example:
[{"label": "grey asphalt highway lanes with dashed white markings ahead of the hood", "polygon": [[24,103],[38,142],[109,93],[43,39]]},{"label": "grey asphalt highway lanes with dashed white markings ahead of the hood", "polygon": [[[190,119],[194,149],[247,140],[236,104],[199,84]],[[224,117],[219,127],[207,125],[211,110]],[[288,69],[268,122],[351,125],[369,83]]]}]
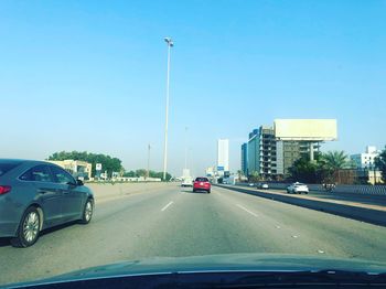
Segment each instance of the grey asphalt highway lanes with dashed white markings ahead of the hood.
[{"label": "grey asphalt highway lanes with dashed white markings ahead of the hood", "polygon": [[156,256],[287,253],[386,261],[386,227],[221,188],[178,184],[100,202],[90,224],[0,243],[0,285]]}]

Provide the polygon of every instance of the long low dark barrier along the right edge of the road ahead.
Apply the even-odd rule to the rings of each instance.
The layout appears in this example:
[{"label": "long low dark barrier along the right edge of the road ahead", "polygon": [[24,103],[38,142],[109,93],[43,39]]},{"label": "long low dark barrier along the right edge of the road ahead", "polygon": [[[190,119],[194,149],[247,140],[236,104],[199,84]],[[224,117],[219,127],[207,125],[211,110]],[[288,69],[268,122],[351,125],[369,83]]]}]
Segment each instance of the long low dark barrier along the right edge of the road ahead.
[{"label": "long low dark barrier along the right edge of the road ahead", "polygon": [[307,208],[311,208],[311,210],[315,210],[315,211],[320,211],[320,212],[324,212],[333,215],[344,216],[344,217],[353,218],[361,222],[366,222],[374,225],[386,226],[386,212],[375,210],[375,208],[336,204],[336,203],[308,200],[308,199],[299,199],[299,197],[292,197],[289,195],[279,195],[279,194],[272,194],[272,193],[265,193],[261,191],[251,191],[248,189],[237,188],[237,186],[227,186],[227,185],[219,185],[219,184],[216,184],[216,186],[232,190],[232,191],[237,191],[240,193],[256,195],[256,196],[260,196],[260,197],[265,197],[265,199],[269,199],[272,201],[278,201],[278,202],[282,202],[291,205],[302,206],[302,207],[307,207]]}]

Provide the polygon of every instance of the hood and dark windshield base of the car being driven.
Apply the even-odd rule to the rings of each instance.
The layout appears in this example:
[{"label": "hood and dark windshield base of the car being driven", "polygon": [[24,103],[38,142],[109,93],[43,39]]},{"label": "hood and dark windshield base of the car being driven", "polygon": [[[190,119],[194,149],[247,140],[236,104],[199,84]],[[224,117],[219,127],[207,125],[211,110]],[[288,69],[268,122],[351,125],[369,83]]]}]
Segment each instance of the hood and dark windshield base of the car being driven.
[{"label": "hood and dark windshield base of the car being driven", "polygon": [[124,261],[7,288],[385,288],[386,264],[276,254]]}]

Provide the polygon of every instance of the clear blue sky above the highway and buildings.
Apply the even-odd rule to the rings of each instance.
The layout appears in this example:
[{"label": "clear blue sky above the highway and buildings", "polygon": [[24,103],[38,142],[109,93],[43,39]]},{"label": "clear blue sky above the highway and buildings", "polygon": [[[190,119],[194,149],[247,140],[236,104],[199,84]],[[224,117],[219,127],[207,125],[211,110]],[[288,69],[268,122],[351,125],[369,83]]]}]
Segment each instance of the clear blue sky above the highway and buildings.
[{"label": "clear blue sky above the highway and buildings", "polygon": [[275,118],[336,118],[326,149],[386,144],[385,1],[1,1],[0,157],[108,153],[195,174]]}]

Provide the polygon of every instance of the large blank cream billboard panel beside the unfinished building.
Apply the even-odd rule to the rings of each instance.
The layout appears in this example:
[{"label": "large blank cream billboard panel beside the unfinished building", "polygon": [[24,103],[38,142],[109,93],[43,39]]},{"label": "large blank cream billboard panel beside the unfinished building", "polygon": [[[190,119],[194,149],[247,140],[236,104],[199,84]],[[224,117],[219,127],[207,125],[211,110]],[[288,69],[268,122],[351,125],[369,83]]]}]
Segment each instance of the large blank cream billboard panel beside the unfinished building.
[{"label": "large blank cream billboard panel beside the unfinished building", "polygon": [[279,140],[336,140],[336,119],[276,119],[275,137]]}]

